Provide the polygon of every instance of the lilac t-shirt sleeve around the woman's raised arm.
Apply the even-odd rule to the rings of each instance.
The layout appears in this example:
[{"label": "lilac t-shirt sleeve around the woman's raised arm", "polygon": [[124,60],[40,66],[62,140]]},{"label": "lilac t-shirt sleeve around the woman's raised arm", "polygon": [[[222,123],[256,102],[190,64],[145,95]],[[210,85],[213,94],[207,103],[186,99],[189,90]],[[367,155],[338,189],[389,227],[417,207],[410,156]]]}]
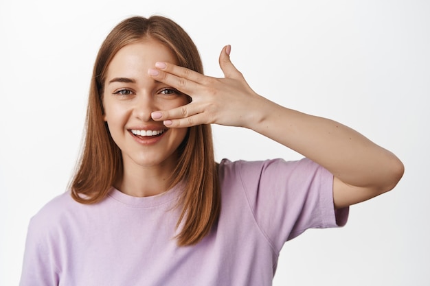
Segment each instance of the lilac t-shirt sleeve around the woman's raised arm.
[{"label": "lilac t-shirt sleeve around the woman's raised arm", "polygon": [[332,174],[312,160],[240,161],[237,167],[256,222],[278,251],[308,228],[346,224],[349,208],[335,211]]}]

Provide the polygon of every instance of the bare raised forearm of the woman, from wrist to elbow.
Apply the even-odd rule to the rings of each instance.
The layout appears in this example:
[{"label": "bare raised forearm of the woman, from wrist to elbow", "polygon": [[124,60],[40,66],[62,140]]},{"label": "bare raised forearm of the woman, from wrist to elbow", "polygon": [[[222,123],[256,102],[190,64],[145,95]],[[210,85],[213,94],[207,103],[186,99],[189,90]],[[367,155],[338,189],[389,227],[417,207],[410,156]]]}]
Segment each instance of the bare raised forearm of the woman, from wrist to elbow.
[{"label": "bare raised forearm of the woman, from wrist to elbow", "polygon": [[264,98],[259,101],[254,120],[245,127],[314,160],[342,182],[387,191],[398,181],[394,177],[403,173],[403,165],[394,154],[359,132]]}]

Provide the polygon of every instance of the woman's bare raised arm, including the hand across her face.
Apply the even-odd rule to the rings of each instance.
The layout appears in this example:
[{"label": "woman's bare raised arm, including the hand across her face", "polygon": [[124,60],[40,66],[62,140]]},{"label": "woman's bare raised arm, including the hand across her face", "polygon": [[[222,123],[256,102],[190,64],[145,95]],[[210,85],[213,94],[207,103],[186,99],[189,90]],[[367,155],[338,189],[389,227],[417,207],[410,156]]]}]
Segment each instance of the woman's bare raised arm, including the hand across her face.
[{"label": "woman's bare raised arm, including the hand across her face", "polygon": [[363,202],[396,186],[404,169],[394,154],[341,123],[285,108],[256,94],[231,64],[229,51],[227,46],[220,54],[225,78],[157,62],[150,75],[190,95],[192,102],[153,112],[152,118],[170,128],[216,123],[267,136],[333,174],[337,208]]}]

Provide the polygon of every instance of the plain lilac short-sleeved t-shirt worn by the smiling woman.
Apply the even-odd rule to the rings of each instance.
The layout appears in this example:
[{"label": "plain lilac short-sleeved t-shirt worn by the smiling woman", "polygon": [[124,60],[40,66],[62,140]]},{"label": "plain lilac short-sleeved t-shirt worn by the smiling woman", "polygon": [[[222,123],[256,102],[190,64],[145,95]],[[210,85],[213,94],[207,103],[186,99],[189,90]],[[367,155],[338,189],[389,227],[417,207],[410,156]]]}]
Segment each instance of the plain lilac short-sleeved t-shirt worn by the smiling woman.
[{"label": "plain lilac short-sleeved t-shirt worn by the smiling woman", "polygon": [[223,160],[219,171],[220,217],[195,246],[174,239],[180,186],[146,198],[111,189],[92,205],[59,195],[30,222],[21,286],[272,285],[285,241],[346,223],[332,175],[311,160]]}]

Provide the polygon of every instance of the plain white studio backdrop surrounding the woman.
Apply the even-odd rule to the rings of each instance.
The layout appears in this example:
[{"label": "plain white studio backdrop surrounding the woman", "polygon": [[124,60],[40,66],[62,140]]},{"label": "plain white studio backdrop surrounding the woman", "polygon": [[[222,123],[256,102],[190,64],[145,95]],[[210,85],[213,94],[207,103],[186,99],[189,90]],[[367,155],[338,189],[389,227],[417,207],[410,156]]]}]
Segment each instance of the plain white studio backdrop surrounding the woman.
[{"label": "plain white studio backdrop surrounding the woman", "polygon": [[[396,189],[352,206],[346,227],[286,243],[274,285],[430,285],[429,1],[0,2],[0,285],[17,285],[27,224],[65,191],[80,147],[95,55],[128,16],[161,14],[253,89],[340,121],[405,164]],[[299,154],[214,126],[216,158]]]}]

